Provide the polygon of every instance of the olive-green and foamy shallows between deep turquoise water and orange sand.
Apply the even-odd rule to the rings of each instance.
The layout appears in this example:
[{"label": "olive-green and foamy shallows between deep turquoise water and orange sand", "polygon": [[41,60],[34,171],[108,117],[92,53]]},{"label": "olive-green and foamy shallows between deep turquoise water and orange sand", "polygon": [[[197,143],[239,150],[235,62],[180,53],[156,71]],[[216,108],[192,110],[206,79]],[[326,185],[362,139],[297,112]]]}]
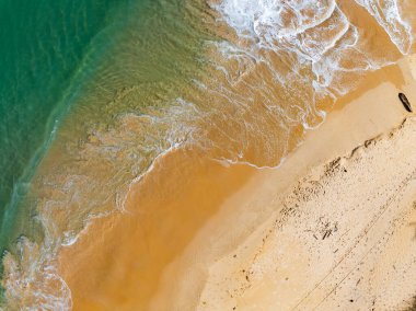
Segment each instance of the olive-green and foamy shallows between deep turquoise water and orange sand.
[{"label": "olive-green and foamy shallows between deep turquoise water and orange sand", "polygon": [[91,219],[123,208],[129,184],[184,140],[181,131],[188,133],[181,119],[190,115],[182,106],[190,105],[178,95],[203,67],[208,35],[194,27],[190,14],[200,9],[182,1],[126,1],[107,9],[106,23],[85,44],[50,108],[60,119],[57,128],[46,127],[46,141],[55,131],[54,141],[31,166],[19,212],[9,214],[2,285],[12,309],[70,308],[54,265],[59,247],[73,243]]}]

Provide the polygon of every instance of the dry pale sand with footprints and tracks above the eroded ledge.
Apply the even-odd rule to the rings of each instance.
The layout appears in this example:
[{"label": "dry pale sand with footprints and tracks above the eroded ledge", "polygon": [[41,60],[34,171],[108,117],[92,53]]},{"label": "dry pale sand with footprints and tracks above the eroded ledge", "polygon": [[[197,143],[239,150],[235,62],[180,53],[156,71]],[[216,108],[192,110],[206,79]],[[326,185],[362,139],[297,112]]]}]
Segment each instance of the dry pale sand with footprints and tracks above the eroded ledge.
[{"label": "dry pale sand with footprints and tracks above the eroded ledge", "polygon": [[[313,168],[270,203],[281,209],[208,265],[195,310],[409,307],[416,292],[415,135],[409,116]],[[386,168],[386,159],[395,165]]]}]

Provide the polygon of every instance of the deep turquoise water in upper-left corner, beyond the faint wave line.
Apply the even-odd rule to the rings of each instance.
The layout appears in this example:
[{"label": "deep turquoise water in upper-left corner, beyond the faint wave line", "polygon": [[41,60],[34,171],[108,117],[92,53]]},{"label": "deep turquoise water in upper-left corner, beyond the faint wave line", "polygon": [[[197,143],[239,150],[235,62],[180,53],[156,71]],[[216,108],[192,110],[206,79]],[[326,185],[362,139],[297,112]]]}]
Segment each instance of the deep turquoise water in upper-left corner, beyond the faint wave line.
[{"label": "deep turquoise water in upper-left corner, beyond the faint wave line", "polygon": [[31,177],[81,81],[112,44],[105,31],[128,5],[0,1],[0,249],[14,241],[11,230]]}]

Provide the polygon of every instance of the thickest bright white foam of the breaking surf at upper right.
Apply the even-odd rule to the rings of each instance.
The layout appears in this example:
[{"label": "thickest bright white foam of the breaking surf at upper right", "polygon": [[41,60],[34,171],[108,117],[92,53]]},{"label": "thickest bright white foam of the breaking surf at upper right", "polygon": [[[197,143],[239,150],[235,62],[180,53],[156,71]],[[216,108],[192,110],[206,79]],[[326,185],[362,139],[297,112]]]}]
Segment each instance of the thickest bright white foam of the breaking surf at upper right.
[{"label": "thickest bright white foam of the breaking surf at upper right", "polygon": [[[402,54],[408,53],[412,28],[401,19],[396,1],[357,0],[357,3],[377,19]],[[336,76],[375,70],[390,64],[371,57],[360,42],[357,26],[335,0],[224,0],[213,8],[239,37],[252,41],[249,46],[252,54],[262,55],[265,49],[291,54],[294,59],[291,71],[279,72],[282,82],[310,67],[315,76],[311,81],[315,91],[333,89],[340,95],[349,88],[339,83]]]}]

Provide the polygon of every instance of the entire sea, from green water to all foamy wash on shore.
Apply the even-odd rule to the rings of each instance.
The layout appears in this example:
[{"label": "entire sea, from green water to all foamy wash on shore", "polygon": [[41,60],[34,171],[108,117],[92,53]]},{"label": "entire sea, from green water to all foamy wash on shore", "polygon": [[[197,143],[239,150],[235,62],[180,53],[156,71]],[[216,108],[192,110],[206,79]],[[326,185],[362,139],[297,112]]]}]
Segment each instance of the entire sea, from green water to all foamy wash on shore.
[{"label": "entire sea, from green water to all foamy wash on shore", "polygon": [[[14,66],[4,76],[15,74],[4,94],[18,88],[24,99],[4,102],[21,108],[4,113],[2,135],[9,143],[2,165],[14,165],[4,175],[4,197],[13,204],[4,204],[2,229],[11,251],[4,298],[14,308],[71,307],[56,269],[60,247],[76,243],[94,218],[123,210],[129,187],[158,157],[199,149],[211,159],[276,166],[323,120],[321,102],[348,92],[355,87],[348,81],[391,64],[411,44],[395,20],[402,39],[377,54],[366,45],[371,30],[335,1],[320,8],[308,1],[293,1],[299,8],[249,0],[107,2],[39,2],[49,10],[39,11],[46,26],[30,14],[33,8],[27,15],[36,25],[24,24],[39,27],[22,49],[33,51],[9,53],[7,64],[18,64],[16,55],[27,60],[24,74]],[[374,25],[384,19],[378,14]],[[50,24],[55,15],[60,27]],[[379,24],[386,37],[396,35]],[[293,25],[301,31],[293,33]],[[26,156],[15,161],[19,148]]]}]

